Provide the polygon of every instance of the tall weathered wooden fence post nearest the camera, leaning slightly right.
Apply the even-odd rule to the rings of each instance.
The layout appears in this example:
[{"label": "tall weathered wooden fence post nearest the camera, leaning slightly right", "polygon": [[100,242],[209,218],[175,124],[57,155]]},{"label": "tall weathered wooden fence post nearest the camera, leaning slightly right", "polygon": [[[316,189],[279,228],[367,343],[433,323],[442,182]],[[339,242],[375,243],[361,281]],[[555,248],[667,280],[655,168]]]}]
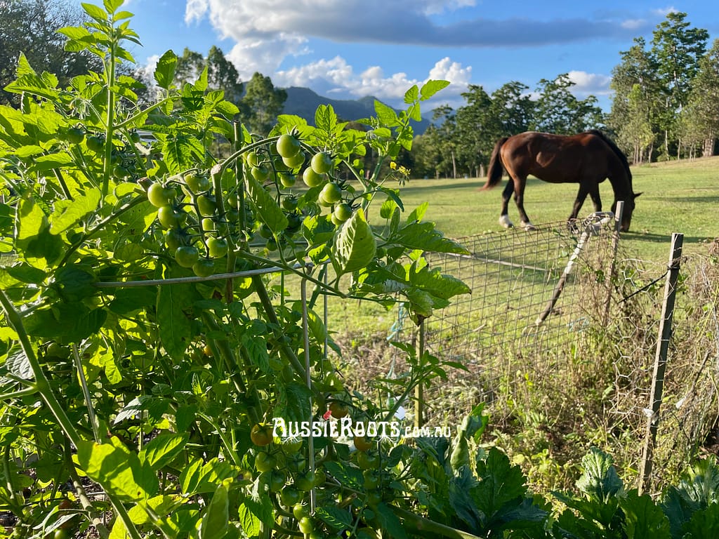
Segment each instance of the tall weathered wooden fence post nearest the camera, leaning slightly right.
[{"label": "tall weathered wooden fence post nearest the camera, leaning slightly right", "polygon": [[641,494],[646,487],[649,487],[649,476],[651,476],[656,430],[659,428],[659,407],[661,406],[661,394],[664,391],[664,372],[667,370],[669,339],[672,337],[674,300],[677,295],[677,278],[679,277],[679,262],[682,259],[683,243],[684,234],[672,234],[672,249],[669,254],[667,284],[664,287],[664,303],[661,307],[661,320],[659,321],[659,341],[656,343],[654,375],[651,379],[651,396],[649,397],[649,409],[646,410],[647,421],[644,451],[641,457],[639,476],[637,478],[639,494]]}]

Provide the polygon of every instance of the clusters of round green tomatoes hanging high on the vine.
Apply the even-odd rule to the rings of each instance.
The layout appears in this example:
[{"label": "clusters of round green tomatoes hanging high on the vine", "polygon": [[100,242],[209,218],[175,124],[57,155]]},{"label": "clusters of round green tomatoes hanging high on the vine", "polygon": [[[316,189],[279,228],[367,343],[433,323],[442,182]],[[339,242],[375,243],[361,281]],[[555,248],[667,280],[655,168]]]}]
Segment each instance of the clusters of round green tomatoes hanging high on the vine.
[{"label": "clusters of round green tomatoes hanging high on the vine", "polygon": [[[157,221],[165,229],[168,253],[198,277],[214,275],[216,260],[234,248],[241,234],[259,239],[271,252],[299,231],[307,215],[329,208],[328,218],[335,226],[352,216],[342,183],[331,178],[331,155],[316,151],[310,157],[293,134],[252,144],[242,154],[242,167],[244,175],[252,175],[282,208],[288,222],[284,231],[278,234],[256,219],[261,212],[247,200],[240,202],[237,187],[222,193],[201,170],[188,170],[147,187],[147,199],[157,208]],[[315,196],[293,192],[299,177]]]}]

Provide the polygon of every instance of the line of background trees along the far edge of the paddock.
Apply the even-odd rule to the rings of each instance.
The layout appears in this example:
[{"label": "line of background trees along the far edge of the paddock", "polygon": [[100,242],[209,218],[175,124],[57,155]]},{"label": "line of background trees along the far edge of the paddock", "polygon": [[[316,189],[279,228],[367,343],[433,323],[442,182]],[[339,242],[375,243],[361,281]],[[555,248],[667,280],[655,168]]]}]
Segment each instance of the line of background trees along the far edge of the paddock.
[{"label": "line of background trees along the far edge of the paddock", "polygon": [[[13,80],[20,51],[35,70],[50,71],[60,80],[97,70],[91,57],[65,52],[63,36],[55,32],[80,17],[81,11],[68,0],[0,0],[0,88]],[[500,137],[587,129],[608,132],[634,163],[714,155],[719,137],[719,40],[707,49],[707,30],[692,27],[686,19],[686,13],[670,12],[651,42],[637,37],[629,50],[620,52],[620,64],[612,70],[608,113],[595,96],[577,98],[567,73],[543,78],[531,91],[518,81],[492,93],[470,85],[462,93],[463,106],[435,109],[431,126],[415,138],[411,152],[400,155],[399,164],[414,177],[476,177],[483,175]],[[218,47],[207,55],[186,48],[178,57],[175,82],[181,87],[205,68],[209,88],[224,91],[238,106],[237,119],[252,132],[267,134],[283,112],[285,91],[261,73],[243,82]],[[140,96],[144,92],[152,101],[156,96],[149,76],[130,74],[145,85],[138,88]],[[0,94],[0,102],[10,98]]]}]

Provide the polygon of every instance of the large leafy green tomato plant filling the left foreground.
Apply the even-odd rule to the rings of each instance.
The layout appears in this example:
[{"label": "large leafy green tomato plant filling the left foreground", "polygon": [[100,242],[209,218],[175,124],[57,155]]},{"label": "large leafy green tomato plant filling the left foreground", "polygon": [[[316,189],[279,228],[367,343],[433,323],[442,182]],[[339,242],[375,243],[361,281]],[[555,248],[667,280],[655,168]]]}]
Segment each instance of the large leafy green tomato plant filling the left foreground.
[{"label": "large leafy green tomato plant filling the left foreground", "polygon": [[[9,119],[0,123],[1,209],[10,216],[0,219],[9,254],[0,290],[0,405],[10,429],[0,436],[3,510],[20,515],[23,530],[41,530],[70,483],[83,515],[112,513],[103,537],[234,537],[240,526],[252,537],[350,535],[368,520],[365,490],[375,484],[367,476],[365,487],[361,461],[398,489],[372,508],[377,522],[420,522],[408,501],[418,483],[451,515],[446,493],[432,490],[449,484],[444,464],[431,480],[413,464],[426,448],[379,438],[364,451],[359,438],[275,443],[272,423],[307,421],[326,402],[335,418],[347,417],[345,402],[362,420],[393,417],[385,402],[342,387],[325,357],[327,346],[339,348],[317,313],[323,295],[403,303],[418,320],[467,292],[418,254],[464,248],[423,221],[426,208],[403,217],[383,167],[359,168],[367,152],[386,161],[408,149],[421,101],[446,83],[408,90],[405,111],[377,103],[366,129],[320,106],[313,124],[280,116],[258,137],[209,88],[206,70],[175,86],[171,51],[153,76],[162,97],[139,103],[137,80],[119,75],[132,73],[121,68],[132,63],[127,42],[138,42],[120,4],[83,4],[92,22],[61,31],[70,50],[98,56],[103,73],[60,87],[20,57],[6,90],[23,96],[22,110],[0,106]],[[84,142],[70,141],[80,139],[77,126]],[[140,140],[139,129],[154,137]],[[293,192],[308,156],[310,188]],[[316,292],[304,301],[277,293],[270,271]],[[404,397],[449,368],[422,367],[405,352],[415,370]],[[352,457],[354,448],[364,456]],[[383,462],[391,470],[377,470]],[[86,495],[88,483],[104,499]],[[14,494],[25,489],[27,498]],[[341,517],[311,515],[305,492],[314,509],[342,504]]]}]

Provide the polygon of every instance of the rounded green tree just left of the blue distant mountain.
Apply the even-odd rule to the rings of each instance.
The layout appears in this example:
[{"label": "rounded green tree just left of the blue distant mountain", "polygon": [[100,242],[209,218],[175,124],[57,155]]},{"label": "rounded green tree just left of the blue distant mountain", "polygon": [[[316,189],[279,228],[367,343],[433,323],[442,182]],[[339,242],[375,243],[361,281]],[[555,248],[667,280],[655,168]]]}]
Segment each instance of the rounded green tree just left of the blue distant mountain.
[{"label": "rounded green tree just left of the blue distant mountain", "polygon": [[257,134],[269,133],[286,100],[287,92],[283,88],[275,88],[270,77],[255,73],[239,104],[243,123]]}]

